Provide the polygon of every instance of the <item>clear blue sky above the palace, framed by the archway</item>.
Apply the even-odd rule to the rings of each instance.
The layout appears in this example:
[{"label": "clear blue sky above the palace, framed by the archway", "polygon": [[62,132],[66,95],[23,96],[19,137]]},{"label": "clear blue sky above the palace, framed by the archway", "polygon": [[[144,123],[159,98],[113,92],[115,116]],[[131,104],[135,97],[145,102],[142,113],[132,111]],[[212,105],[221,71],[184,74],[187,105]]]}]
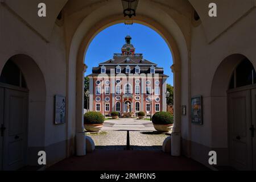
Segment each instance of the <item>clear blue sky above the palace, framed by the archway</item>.
[{"label": "clear blue sky above the palace, framed by the archway", "polygon": [[85,55],[85,64],[88,66],[85,75],[92,73],[92,67],[112,59],[113,53],[121,53],[126,35],[131,36],[135,53],[143,53],[145,59],[158,64],[158,67],[163,67],[164,74],[170,76],[167,80],[168,84],[173,85],[173,73],[170,69],[172,55],[169,47],[157,32],[138,23],[115,24],[96,35]]}]

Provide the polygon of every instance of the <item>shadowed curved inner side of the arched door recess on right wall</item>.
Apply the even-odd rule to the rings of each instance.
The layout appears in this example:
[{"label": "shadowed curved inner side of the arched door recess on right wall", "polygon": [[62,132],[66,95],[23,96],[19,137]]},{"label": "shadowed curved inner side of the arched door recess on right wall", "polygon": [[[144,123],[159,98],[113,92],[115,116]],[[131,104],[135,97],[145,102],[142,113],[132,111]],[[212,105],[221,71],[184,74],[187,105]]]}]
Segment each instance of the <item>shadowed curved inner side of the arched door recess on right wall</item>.
[{"label": "shadowed curved inner side of the arched door recess on right wall", "polygon": [[232,73],[246,56],[236,53],[226,57],[214,73],[210,97],[212,150],[218,154],[218,165],[229,165],[228,89]]}]

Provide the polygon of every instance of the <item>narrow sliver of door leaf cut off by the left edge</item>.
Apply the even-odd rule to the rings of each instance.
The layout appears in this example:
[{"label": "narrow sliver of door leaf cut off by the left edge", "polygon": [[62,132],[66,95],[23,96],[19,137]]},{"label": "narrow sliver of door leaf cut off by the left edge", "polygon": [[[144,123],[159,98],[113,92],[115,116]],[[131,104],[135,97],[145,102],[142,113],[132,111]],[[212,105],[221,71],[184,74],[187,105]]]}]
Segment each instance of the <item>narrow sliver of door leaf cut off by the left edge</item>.
[{"label": "narrow sliver of door leaf cut off by the left edge", "polygon": [[3,126],[3,106],[4,106],[4,89],[0,87],[0,170],[2,170],[3,167],[3,132],[4,132],[4,126]]}]

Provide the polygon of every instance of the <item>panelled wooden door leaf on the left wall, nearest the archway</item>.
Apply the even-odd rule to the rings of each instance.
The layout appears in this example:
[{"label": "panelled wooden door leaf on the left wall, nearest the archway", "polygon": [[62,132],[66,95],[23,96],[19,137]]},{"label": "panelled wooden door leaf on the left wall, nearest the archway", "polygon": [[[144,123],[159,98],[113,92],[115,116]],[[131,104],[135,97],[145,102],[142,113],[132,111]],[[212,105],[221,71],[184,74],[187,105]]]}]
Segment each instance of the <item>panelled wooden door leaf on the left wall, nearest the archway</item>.
[{"label": "panelled wooden door leaf on the left wall, nearest the archway", "polygon": [[5,89],[3,135],[3,170],[16,170],[26,165],[27,93]]}]

